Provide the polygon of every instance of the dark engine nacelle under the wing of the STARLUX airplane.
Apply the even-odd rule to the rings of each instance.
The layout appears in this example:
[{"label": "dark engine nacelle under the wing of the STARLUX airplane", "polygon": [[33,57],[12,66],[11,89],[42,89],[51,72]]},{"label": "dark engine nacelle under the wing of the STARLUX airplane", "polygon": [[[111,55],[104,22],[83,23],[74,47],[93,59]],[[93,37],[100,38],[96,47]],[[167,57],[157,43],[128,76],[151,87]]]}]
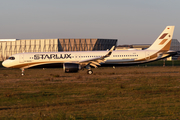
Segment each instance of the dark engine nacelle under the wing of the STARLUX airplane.
[{"label": "dark engine nacelle under the wing of the STARLUX airplane", "polygon": [[81,69],[81,66],[76,63],[64,63],[63,70],[65,73],[78,72]]}]

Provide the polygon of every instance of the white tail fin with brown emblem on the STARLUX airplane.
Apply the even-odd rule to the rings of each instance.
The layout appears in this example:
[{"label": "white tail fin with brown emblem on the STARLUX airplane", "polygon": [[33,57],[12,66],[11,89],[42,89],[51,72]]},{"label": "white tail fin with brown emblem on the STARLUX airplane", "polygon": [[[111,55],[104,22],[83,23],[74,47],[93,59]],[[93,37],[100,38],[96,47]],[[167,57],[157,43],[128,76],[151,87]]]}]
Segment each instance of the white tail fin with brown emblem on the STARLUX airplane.
[{"label": "white tail fin with brown emblem on the STARLUX airplane", "polygon": [[174,32],[174,26],[167,26],[156,41],[147,50],[168,51],[171,46],[171,40]]}]

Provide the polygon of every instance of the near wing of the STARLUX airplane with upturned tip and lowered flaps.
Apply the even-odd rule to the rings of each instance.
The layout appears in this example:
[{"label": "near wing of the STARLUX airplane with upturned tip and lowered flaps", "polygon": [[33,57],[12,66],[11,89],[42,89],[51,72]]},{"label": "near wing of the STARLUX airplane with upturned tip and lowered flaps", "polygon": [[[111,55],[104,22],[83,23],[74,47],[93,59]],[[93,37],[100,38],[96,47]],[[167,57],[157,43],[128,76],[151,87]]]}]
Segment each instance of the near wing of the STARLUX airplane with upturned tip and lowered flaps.
[{"label": "near wing of the STARLUX airplane with upturned tip and lowered flaps", "polygon": [[95,68],[97,68],[97,66],[100,66],[100,63],[104,63],[106,57],[109,57],[112,54],[112,51],[114,50],[113,46],[106,55],[101,56],[101,57],[96,57],[96,58],[91,58],[91,59],[86,59],[86,60],[82,60],[79,61],[79,64],[81,64],[82,66],[86,66],[86,65],[91,65]]}]

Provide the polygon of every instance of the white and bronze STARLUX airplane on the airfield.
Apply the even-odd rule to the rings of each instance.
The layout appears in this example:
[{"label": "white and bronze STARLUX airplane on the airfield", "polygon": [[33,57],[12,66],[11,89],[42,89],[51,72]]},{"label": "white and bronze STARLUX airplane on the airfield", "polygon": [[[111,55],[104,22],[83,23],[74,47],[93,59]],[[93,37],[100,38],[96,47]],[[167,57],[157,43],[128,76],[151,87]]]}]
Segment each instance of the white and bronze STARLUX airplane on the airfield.
[{"label": "white and bronze STARLUX airplane on the airfield", "polygon": [[22,75],[24,69],[39,66],[63,64],[65,73],[78,72],[88,69],[88,74],[93,74],[91,67],[110,65],[136,65],[153,62],[177,54],[169,50],[174,26],[167,26],[155,42],[145,50],[114,50],[109,51],[69,51],[69,52],[32,52],[18,53],[3,61],[2,65],[7,68],[20,68]]}]

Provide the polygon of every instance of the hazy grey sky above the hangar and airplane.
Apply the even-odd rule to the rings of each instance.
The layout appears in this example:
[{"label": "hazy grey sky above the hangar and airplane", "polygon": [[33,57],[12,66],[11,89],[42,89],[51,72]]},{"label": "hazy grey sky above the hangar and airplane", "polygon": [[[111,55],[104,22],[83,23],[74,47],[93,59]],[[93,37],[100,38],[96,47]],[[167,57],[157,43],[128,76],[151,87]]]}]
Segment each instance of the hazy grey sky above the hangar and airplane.
[{"label": "hazy grey sky above the hangar and airplane", "polygon": [[180,0],[1,0],[0,39],[114,38],[151,44],[168,25],[180,40]]}]

